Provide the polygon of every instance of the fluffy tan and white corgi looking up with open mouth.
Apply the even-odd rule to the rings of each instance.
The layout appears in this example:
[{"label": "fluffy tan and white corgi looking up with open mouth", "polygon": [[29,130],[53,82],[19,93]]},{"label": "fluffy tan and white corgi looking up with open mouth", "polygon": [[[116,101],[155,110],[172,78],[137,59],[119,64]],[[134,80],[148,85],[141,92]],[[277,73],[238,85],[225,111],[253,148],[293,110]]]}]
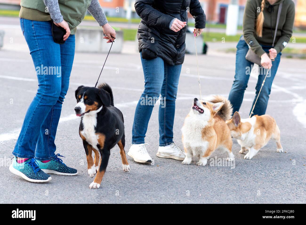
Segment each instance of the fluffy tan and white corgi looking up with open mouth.
[{"label": "fluffy tan and white corgi looking up with open mouth", "polygon": [[199,157],[196,165],[204,166],[216,150],[226,151],[228,161],[234,160],[232,138],[226,120],[231,118],[232,105],[222,96],[209,101],[195,98],[182,127],[182,142],[186,157],[182,164],[190,164],[192,157]]}]

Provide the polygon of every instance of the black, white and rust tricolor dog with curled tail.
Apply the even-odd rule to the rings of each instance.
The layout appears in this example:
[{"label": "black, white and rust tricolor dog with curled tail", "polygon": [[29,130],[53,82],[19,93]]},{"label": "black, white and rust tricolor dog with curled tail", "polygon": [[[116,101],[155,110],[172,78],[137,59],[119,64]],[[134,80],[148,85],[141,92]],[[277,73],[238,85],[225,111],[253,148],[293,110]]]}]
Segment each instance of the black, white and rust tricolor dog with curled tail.
[{"label": "black, white and rust tricolor dog with curled tail", "polygon": [[[74,110],[76,116],[81,117],[79,134],[86,152],[88,174],[93,177],[97,173],[89,187],[99,188],[110,158],[110,149],[116,144],[120,148],[123,170],[128,172],[130,169],[124,151],[123,115],[114,107],[113,92],[106,83],[98,88],[80,86],[75,95],[77,104]],[[95,152],[95,161],[91,156],[92,151]]]}]

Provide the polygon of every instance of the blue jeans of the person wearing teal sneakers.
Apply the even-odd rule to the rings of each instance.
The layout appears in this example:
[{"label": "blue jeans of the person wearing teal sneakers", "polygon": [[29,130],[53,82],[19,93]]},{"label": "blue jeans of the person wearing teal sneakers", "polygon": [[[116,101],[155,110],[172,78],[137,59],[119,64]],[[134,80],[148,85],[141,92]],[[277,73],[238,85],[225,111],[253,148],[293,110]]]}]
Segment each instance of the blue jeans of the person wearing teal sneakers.
[{"label": "blue jeans of the person wearing teal sneakers", "polygon": [[53,40],[50,21],[20,18],[20,25],[35,66],[38,89],[25,115],[13,155],[49,160],[56,158],[54,139],[69,87],[75,37],[70,35],[60,45]]}]

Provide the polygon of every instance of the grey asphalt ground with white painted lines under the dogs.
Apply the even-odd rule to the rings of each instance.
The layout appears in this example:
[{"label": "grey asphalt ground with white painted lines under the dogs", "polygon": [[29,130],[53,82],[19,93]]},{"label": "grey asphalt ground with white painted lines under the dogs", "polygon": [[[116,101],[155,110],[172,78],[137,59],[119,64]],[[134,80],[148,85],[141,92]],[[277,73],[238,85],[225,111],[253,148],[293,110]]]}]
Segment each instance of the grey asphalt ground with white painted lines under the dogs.
[{"label": "grey asphalt ground with white painted lines under the dogs", "polygon": [[[1,28],[1,26],[0,26]],[[0,203],[305,203],[306,147],[306,74],[305,60],[282,58],[274,79],[267,114],[281,130],[283,153],[276,152],[271,140],[251,160],[239,154],[234,140],[234,165],[209,161],[197,166],[158,158],[158,107],[149,122],[146,142],[152,165],[136,163],[127,156],[130,172],[123,172],[119,148],[111,150],[110,161],[101,187],[89,189],[93,181],[87,173],[82,140],[78,135],[79,118],[74,115],[74,91],[79,85],[94,86],[106,54],[76,53],[69,91],[62,108],[56,137],[56,153],[64,155],[66,165],[78,169],[77,176],[52,175],[48,183],[30,183],[9,172],[12,151],[25,112],[37,90],[31,56],[21,31],[8,30],[6,47],[0,50]],[[12,38],[12,39],[11,39]],[[13,40],[12,43],[9,41]],[[199,55],[202,95],[228,96],[234,71],[234,54]],[[144,87],[139,54],[110,53],[100,82],[114,92],[114,103],[125,119],[126,148],[131,145],[132,122],[136,103]],[[241,116],[248,117],[255,96],[256,76],[252,76],[244,95]],[[181,127],[199,97],[196,57],[186,55],[182,66],[176,101],[174,141],[181,143]],[[213,160],[226,158],[214,152]]]}]

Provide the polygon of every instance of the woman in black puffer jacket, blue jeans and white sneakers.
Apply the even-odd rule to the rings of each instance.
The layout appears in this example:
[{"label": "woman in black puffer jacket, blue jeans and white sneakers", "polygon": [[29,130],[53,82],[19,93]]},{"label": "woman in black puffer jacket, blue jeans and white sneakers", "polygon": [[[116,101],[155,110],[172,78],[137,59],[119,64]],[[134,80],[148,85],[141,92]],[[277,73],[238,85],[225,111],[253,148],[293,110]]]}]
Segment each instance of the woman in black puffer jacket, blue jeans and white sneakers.
[{"label": "woman in black puffer jacket, blue jeans and white sneakers", "polygon": [[194,35],[205,28],[206,16],[198,0],[136,0],[139,52],[144,70],[144,92],[137,104],[132,147],[128,155],[135,161],[151,163],[144,137],[155,102],[159,106],[158,157],[184,160],[185,153],[173,142],[173,123],[178,80],[185,56],[187,12],[195,18]]}]

